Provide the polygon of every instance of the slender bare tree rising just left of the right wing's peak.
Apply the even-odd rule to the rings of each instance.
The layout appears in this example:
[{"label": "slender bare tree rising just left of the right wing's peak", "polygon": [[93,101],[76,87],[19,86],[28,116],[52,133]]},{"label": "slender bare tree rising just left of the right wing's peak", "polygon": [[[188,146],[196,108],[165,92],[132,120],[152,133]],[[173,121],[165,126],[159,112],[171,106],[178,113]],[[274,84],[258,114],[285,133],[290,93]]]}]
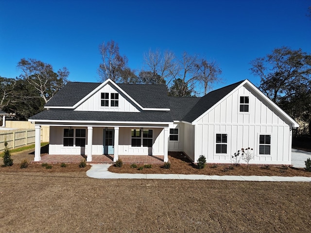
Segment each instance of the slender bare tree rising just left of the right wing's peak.
[{"label": "slender bare tree rising just left of the right wing's peak", "polygon": [[207,90],[212,88],[213,83],[221,81],[219,75],[221,75],[222,70],[218,67],[215,61],[208,62],[206,59],[202,58],[198,60],[195,66],[195,77],[194,79],[204,86],[204,95],[207,94]]}]

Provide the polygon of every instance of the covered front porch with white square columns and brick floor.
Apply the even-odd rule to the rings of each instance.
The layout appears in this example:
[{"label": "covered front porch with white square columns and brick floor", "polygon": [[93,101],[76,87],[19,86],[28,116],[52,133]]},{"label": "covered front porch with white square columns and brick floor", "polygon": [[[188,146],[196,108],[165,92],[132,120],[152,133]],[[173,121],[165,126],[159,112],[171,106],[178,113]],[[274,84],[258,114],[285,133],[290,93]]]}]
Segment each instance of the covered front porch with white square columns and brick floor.
[{"label": "covered front porch with white square columns and brick floor", "polygon": [[35,125],[35,162],[89,164],[161,164],[168,162],[169,124],[50,126],[49,154],[40,154],[40,129]]}]

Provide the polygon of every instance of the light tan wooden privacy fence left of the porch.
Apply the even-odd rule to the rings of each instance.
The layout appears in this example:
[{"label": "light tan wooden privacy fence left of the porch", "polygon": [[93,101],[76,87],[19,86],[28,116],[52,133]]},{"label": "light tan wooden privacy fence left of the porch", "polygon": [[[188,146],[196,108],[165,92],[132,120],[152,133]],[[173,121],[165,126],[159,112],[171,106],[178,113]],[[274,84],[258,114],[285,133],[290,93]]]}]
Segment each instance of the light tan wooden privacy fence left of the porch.
[{"label": "light tan wooden privacy fence left of the porch", "polygon": [[[42,130],[41,130],[41,139],[42,139]],[[4,150],[5,141],[7,141],[9,149],[34,144],[35,130],[29,129],[29,130],[0,133],[0,151]]]}]

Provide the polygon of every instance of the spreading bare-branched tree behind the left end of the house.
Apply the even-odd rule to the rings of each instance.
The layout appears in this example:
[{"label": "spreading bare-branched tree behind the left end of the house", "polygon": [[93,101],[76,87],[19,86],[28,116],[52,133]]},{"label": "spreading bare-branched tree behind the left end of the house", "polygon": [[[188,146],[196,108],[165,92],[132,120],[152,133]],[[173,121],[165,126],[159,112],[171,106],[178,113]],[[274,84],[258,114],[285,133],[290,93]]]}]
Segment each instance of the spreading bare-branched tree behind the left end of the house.
[{"label": "spreading bare-branched tree behind the left end of the house", "polygon": [[54,72],[52,65],[36,59],[22,58],[17,63],[17,67],[22,70],[20,78],[31,84],[45,102],[48,102],[67,83],[69,76],[66,67]]}]

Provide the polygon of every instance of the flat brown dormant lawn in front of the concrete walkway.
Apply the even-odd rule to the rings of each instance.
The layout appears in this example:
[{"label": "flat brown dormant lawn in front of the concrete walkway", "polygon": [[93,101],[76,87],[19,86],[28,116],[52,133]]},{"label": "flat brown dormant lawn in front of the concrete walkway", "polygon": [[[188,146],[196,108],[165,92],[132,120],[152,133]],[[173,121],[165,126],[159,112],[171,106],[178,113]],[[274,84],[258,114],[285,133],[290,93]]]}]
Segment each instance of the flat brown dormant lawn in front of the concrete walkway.
[{"label": "flat brown dormant lawn in front of the concrete walkway", "polygon": [[310,232],[311,183],[2,172],[1,233]]}]

